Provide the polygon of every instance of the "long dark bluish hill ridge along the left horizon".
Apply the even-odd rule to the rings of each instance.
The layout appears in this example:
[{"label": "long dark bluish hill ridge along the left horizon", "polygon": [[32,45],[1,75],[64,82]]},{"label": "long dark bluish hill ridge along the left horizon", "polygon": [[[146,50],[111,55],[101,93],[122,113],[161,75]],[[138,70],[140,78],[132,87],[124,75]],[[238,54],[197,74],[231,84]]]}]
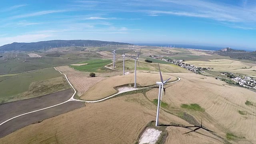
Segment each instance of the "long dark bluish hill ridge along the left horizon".
[{"label": "long dark bluish hill ridge along the left horizon", "polygon": [[14,42],[12,44],[6,44],[4,46],[0,46],[0,51],[10,51],[10,50],[19,50],[19,51],[29,51],[29,50],[42,50],[42,48],[46,47],[60,47],[60,46],[71,46],[74,44],[75,46],[101,46],[102,44],[112,44],[112,45],[128,45],[129,43],[124,42],[107,42],[100,40],[49,40],[49,41],[41,41],[41,42]]}]

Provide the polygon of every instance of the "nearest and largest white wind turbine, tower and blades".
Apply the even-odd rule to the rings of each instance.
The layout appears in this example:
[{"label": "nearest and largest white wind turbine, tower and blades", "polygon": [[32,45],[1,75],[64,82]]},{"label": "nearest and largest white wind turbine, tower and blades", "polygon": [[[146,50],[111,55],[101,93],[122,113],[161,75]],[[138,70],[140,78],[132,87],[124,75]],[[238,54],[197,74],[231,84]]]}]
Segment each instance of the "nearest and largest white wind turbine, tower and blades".
[{"label": "nearest and largest white wind turbine, tower and blades", "polygon": [[[158,68],[159,68],[161,82],[156,82],[156,84],[159,85],[158,104],[157,104],[157,112],[156,112],[156,126],[158,126],[158,117],[159,117],[159,112],[160,112],[160,108],[161,108],[164,84],[166,84],[166,82],[168,82],[168,80],[171,79],[171,78],[168,78],[167,80],[164,81],[163,77],[162,77],[162,74],[161,74],[161,70],[160,70],[159,64],[158,64]],[[161,89],[162,89],[162,92],[161,92]],[[161,98],[160,98],[160,92],[161,92]]]}]

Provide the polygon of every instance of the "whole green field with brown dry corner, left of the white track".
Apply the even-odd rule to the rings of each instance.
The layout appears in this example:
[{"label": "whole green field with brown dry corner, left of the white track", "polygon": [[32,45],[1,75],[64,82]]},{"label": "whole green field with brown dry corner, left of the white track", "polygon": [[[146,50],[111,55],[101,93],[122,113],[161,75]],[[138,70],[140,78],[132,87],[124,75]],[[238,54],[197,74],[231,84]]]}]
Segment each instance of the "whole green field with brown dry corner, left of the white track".
[{"label": "whole green field with brown dry corner, left of the white track", "polygon": [[2,79],[0,82],[1,103],[42,96],[70,88],[64,77],[54,68],[13,76],[2,75],[0,78]]}]

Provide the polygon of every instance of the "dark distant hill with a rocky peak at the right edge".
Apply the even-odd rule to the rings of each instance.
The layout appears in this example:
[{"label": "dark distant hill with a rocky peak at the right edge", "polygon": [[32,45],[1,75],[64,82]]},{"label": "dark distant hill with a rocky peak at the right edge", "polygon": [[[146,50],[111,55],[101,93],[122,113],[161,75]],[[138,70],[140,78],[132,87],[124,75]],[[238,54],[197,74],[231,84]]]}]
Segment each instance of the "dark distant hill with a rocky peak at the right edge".
[{"label": "dark distant hill with a rocky peak at the right edge", "polygon": [[220,56],[229,56],[240,60],[253,60],[256,61],[256,51],[246,52],[244,50],[234,50],[232,48],[223,48],[215,52]]}]

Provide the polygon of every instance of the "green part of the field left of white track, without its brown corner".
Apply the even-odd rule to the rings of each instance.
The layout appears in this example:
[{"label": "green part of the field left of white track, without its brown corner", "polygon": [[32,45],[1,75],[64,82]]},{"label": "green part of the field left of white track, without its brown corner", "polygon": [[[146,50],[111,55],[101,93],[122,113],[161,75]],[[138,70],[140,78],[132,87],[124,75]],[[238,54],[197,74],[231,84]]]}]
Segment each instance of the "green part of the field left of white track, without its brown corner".
[{"label": "green part of the field left of white track, without its brown corner", "polygon": [[0,82],[0,101],[5,101],[6,99],[9,99],[9,97],[15,98],[18,94],[26,92],[29,90],[29,86],[32,82],[48,80],[60,76],[62,76],[62,74],[54,70],[54,68],[17,74],[16,76],[8,76],[8,79]]}]

